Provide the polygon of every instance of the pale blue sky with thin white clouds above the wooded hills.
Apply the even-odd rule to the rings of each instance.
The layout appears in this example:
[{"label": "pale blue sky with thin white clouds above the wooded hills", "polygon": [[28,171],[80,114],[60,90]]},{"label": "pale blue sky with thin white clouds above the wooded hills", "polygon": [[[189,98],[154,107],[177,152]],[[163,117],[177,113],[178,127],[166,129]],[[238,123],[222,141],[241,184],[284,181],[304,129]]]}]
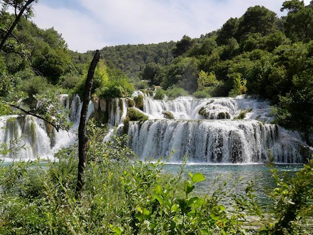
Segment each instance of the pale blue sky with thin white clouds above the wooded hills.
[{"label": "pale blue sky with thin white clouds above the wooded hills", "polygon": [[[249,6],[264,5],[282,16],[283,0],[39,0],[32,21],[54,27],[69,49],[178,41],[220,28]],[[310,0],[305,0],[309,4]]]}]

